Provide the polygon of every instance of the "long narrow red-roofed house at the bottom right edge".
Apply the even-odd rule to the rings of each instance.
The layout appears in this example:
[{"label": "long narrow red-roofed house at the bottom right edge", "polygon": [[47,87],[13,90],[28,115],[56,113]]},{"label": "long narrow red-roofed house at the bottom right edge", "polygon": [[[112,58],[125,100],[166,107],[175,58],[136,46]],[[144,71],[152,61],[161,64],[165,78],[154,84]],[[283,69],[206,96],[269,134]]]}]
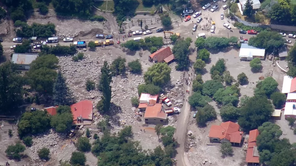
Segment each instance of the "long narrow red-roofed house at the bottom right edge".
[{"label": "long narrow red-roofed house at the bottom right edge", "polygon": [[249,143],[246,155],[247,165],[260,165],[259,152],[256,146],[256,139],[258,135],[258,129],[251,130],[249,133]]}]

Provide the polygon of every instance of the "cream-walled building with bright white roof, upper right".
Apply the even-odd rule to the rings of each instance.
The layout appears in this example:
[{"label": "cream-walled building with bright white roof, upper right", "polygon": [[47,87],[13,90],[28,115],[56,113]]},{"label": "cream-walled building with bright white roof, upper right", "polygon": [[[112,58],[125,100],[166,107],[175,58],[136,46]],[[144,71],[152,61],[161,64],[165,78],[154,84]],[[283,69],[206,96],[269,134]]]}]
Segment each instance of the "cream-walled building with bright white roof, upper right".
[{"label": "cream-walled building with bright white roof, upper right", "polygon": [[265,49],[249,46],[247,43],[242,43],[240,46],[240,60],[251,61],[254,58],[265,58]]}]

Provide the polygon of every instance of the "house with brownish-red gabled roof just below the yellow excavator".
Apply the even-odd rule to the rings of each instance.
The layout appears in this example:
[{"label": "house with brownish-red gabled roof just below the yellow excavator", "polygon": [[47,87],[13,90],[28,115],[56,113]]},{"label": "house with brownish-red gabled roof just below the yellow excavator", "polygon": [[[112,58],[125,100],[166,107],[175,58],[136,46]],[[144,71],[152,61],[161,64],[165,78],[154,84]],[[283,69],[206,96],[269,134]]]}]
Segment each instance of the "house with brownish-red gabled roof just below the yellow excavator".
[{"label": "house with brownish-red gabled roof just below the yellow excavator", "polygon": [[162,47],[161,49],[157,50],[155,53],[149,55],[148,60],[150,62],[166,62],[169,63],[174,60],[174,54],[171,52],[170,47]]}]

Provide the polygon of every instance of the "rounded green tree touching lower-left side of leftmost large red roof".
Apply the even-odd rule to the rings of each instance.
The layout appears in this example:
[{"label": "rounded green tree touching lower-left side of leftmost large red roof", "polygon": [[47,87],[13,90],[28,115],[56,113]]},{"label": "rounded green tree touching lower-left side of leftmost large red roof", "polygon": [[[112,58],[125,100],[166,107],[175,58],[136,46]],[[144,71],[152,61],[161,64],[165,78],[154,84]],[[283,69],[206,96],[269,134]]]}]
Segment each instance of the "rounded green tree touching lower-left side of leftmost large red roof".
[{"label": "rounded green tree touching lower-left side of leftmost large red roof", "polygon": [[67,133],[73,124],[72,113],[64,112],[51,117],[50,125],[58,133]]}]

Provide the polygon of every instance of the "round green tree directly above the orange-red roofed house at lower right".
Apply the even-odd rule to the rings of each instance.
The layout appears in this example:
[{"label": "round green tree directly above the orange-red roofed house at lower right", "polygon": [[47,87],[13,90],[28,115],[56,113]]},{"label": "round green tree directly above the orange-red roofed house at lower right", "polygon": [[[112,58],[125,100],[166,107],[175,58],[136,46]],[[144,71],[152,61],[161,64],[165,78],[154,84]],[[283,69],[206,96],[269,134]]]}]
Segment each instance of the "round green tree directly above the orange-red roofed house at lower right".
[{"label": "round green tree directly above the orange-red roofed house at lower right", "polygon": [[240,109],[232,104],[223,105],[220,109],[220,115],[224,122],[236,121],[240,117]]}]

